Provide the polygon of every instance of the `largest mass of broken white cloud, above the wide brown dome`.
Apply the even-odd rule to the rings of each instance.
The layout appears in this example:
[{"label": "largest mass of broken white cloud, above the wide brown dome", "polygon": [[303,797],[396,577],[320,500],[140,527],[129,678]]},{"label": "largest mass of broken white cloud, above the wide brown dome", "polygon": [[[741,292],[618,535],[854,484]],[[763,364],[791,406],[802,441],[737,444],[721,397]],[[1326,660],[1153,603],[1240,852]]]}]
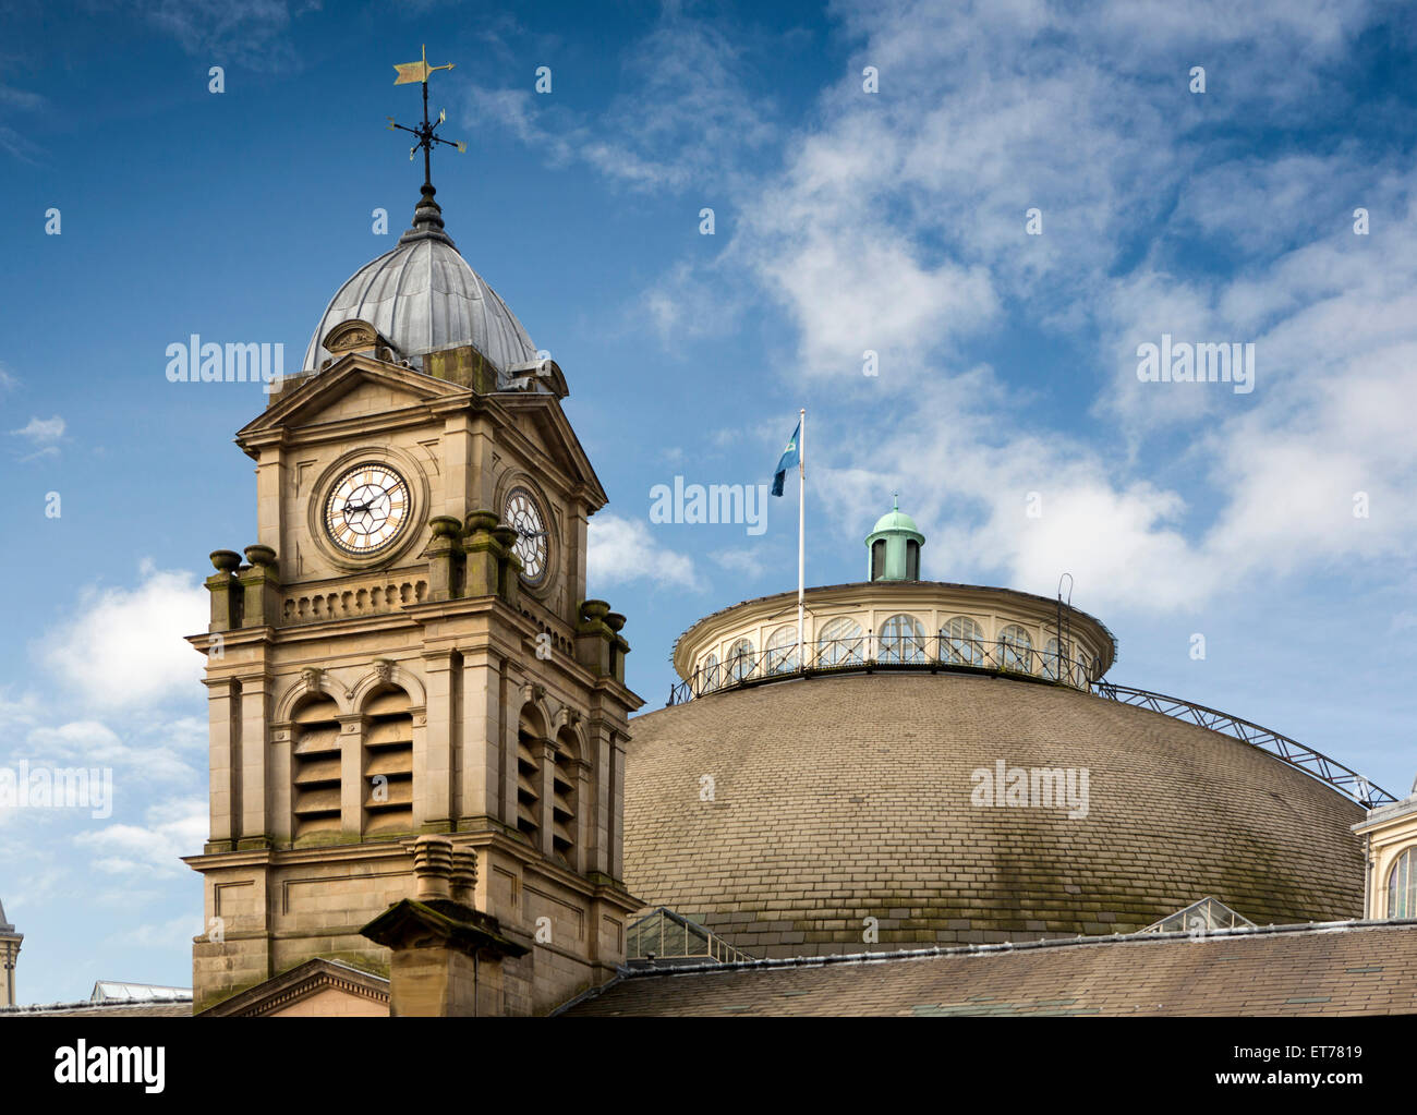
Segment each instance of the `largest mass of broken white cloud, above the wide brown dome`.
[{"label": "largest mass of broken white cloud, above the wide brown dome", "polygon": [[[1291,60],[1340,58],[1376,10],[843,4],[847,77],[745,191],[720,255],[670,268],[655,320],[693,336],[673,292],[711,317],[700,290],[751,289],[734,269],[775,299],[798,333],[784,374],[830,378],[843,404],[819,411],[833,456],[816,497],[856,531],[901,486],[944,524],[925,551],[935,575],[1002,570],[1051,595],[1067,570],[1094,604],[1178,609],[1410,553],[1414,166],[1357,140],[1265,160],[1212,139],[1257,119],[1340,122],[1350,94]],[[1206,101],[1186,91],[1192,57],[1209,64]],[[860,89],[863,65],[879,95]],[[1359,204],[1379,214],[1372,237],[1352,232]],[[1033,205],[1041,237],[1024,232]],[[1219,262],[1197,264],[1197,245]],[[1039,371],[1070,405],[1040,408],[1033,387],[972,366],[976,340],[1015,326],[1068,353]],[[1254,395],[1139,383],[1136,346],[1163,332],[1254,341]],[[1088,408],[1097,428],[1073,428]],[[1353,517],[1356,492],[1372,519]]]}]

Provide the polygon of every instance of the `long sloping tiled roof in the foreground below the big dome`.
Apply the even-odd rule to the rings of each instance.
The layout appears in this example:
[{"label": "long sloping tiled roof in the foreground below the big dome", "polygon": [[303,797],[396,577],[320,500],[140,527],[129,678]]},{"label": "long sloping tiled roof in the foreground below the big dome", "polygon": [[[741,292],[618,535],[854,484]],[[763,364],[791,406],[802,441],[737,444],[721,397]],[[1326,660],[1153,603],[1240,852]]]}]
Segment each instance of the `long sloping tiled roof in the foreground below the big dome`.
[{"label": "long sloping tiled roof in the foreground below the big dome", "polygon": [[1417,919],[649,969],[563,1013],[1411,1014]]}]

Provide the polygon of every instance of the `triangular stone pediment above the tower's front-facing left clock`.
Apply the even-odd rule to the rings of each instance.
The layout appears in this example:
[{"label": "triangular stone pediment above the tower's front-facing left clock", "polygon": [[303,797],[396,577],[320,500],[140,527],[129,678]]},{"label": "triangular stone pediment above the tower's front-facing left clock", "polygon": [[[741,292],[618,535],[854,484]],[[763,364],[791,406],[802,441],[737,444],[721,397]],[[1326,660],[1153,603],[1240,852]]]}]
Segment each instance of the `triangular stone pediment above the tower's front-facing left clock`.
[{"label": "triangular stone pediment above the tower's front-facing left clock", "polygon": [[237,443],[249,452],[252,443],[265,441],[264,435],[281,431],[470,398],[465,387],[350,351],[323,371],[282,381],[282,390],[272,395],[261,417],[237,432]]}]

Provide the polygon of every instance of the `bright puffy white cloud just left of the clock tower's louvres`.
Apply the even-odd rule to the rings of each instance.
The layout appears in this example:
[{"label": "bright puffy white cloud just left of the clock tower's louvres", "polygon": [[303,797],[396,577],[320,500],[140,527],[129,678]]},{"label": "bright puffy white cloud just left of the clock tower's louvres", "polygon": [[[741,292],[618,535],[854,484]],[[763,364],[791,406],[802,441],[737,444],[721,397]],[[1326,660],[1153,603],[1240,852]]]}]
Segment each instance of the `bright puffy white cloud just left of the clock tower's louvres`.
[{"label": "bright puffy white cloud just left of the clock tower's louvres", "polygon": [[183,636],[204,630],[208,599],[190,572],[140,570],[136,588],[89,588],[40,640],[57,679],[98,708],[201,698],[203,659]]}]

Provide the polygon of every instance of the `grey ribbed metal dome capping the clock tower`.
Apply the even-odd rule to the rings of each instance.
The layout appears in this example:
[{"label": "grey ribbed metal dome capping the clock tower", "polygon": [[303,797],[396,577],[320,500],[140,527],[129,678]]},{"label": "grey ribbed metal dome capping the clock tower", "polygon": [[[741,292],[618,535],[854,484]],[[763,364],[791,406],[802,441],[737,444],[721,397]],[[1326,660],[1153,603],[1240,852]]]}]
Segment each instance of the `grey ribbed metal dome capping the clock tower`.
[{"label": "grey ribbed metal dome capping the clock tower", "polygon": [[306,371],[330,357],[320,344],[324,334],[351,319],[373,324],[400,358],[414,363],[463,344],[476,346],[502,371],[536,360],[536,346],[516,315],[444,231],[431,190],[398,245],[356,271],[330,299],[305,351]]}]

